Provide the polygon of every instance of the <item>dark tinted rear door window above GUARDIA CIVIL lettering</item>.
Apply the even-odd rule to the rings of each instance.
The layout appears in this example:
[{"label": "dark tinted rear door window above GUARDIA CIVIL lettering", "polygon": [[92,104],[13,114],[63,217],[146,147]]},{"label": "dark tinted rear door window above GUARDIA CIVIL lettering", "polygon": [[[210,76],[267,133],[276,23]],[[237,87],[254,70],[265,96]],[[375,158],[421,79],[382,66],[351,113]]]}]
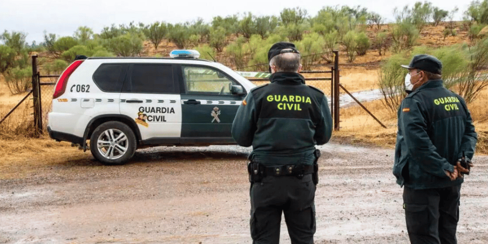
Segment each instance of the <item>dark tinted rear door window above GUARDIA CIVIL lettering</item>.
[{"label": "dark tinted rear door window above GUARDIA CIVIL lettering", "polygon": [[176,93],[171,64],[133,64],[127,92]]}]

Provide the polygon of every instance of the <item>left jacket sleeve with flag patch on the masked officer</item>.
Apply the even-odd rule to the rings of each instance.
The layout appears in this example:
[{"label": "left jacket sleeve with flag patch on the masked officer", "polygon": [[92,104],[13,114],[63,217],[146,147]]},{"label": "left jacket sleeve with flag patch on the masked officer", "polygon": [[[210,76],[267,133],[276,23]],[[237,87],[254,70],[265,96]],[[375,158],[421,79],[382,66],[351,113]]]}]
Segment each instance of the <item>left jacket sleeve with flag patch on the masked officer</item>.
[{"label": "left jacket sleeve with flag patch on the masked officer", "polygon": [[454,172],[454,166],[436,151],[427,134],[427,120],[422,112],[420,102],[406,98],[401,105],[398,126],[404,133],[408,153],[429,174],[447,178],[445,170]]}]

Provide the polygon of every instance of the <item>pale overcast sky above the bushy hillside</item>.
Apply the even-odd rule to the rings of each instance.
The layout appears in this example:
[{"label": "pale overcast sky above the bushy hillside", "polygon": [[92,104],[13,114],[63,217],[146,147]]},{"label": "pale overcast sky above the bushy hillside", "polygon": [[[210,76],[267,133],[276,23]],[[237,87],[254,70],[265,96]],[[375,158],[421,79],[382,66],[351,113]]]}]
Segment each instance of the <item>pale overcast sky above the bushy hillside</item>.
[{"label": "pale overcast sky above the bushy hillside", "polygon": [[[461,20],[470,1],[429,0],[432,6],[451,11],[458,7],[455,20]],[[393,21],[395,7],[413,6],[415,1],[395,0],[0,0],[0,32],[16,31],[27,34],[27,43],[43,41],[43,32],[60,37],[73,36],[79,26],[87,26],[95,33],[112,24],[151,24],[156,21],[184,23],[213,17],[232,16],[251,12],[255,16],[279,16],[284,8],[300,7],[309,16],[317,15],[324,6],[355,7],[380,14],[386,22]]]}]

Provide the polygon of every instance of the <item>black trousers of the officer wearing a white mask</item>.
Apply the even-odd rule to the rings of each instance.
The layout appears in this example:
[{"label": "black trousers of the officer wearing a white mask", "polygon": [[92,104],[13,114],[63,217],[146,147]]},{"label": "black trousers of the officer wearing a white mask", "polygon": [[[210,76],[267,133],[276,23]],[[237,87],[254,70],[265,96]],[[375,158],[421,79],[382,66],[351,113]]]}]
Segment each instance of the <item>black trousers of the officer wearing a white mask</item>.
[{"label": "black trousers of the officer wearing a white mask", "polygon": [[461,185],[415,190],[404,187],[403,202],[411,244],[456,244]]}]

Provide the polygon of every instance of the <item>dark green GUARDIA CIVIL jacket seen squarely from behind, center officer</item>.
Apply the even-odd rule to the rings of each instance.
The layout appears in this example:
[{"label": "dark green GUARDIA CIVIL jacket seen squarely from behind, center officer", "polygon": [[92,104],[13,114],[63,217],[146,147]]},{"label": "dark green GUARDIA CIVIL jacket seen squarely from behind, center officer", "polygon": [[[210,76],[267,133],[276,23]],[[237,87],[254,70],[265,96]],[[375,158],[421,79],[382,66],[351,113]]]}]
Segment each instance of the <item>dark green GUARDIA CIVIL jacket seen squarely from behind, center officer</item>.
[{"label": "dark green GUARDIA CIVIL jacket seen squarely from behind, center officer", "polygon": [[267,166],[312,164],[315,145],[332,134],[327,98],[298,73],[277,72],[249,92],[237,110],[232,137],[252,145],[249,160]]}]

